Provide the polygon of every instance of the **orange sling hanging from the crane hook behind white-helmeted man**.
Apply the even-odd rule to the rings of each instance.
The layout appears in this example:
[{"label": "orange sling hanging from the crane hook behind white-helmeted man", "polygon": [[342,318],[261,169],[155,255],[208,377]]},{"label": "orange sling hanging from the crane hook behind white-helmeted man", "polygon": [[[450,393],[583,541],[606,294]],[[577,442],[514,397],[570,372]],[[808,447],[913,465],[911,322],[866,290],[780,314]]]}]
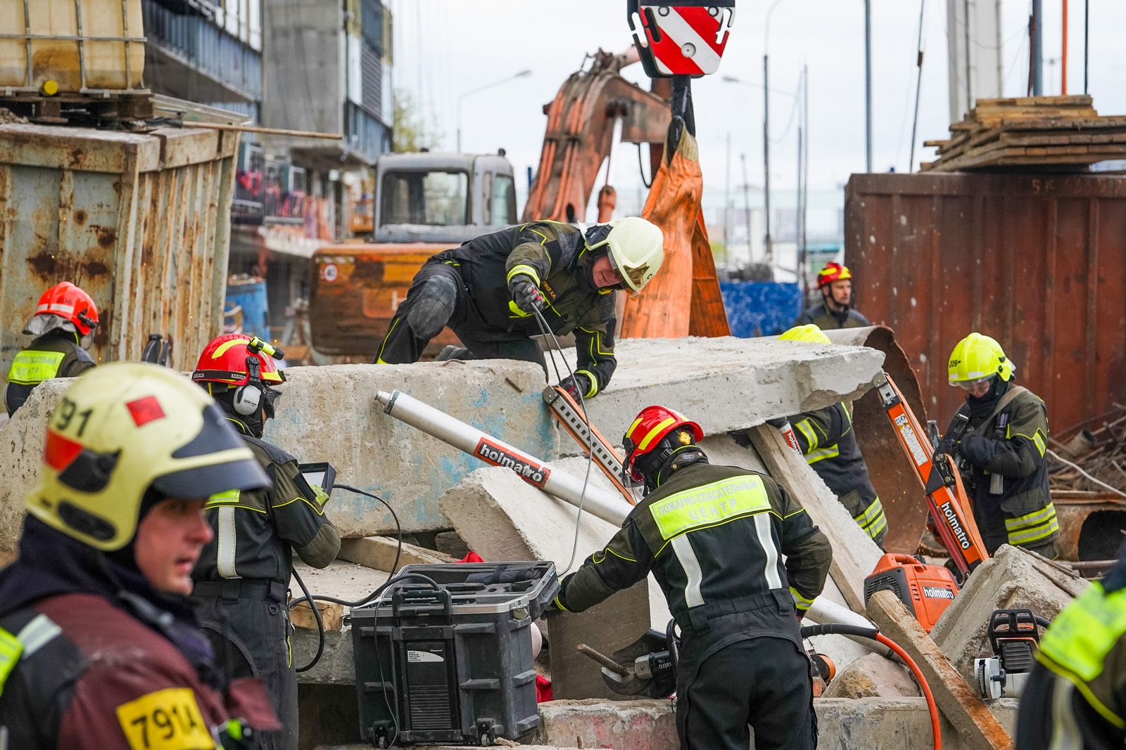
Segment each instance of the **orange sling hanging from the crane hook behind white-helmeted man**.
[{"label": "orange sling hanging from the crane hook behind white-helmeted man", "polygon": [[626,298],[623,338],[731,335],[700,215],[703,192],[696,138],[685,128],[671,157],[665,150],[642,210],[664,233],[664,262],[642,293]]}]

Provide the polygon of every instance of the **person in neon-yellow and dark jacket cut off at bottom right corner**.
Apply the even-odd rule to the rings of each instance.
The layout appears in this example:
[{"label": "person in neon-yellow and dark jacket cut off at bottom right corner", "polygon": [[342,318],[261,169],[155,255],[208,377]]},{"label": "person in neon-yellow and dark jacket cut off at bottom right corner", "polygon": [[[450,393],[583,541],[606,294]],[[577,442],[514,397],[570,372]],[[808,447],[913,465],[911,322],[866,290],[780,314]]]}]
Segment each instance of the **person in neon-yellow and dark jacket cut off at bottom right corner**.
[{"label": "person in neon-yellow and dark jacket cut off at bottom right corner", "polygon": [[1044,633],[1020,696],[1017,749],[1126,744],[1126,558]]}]

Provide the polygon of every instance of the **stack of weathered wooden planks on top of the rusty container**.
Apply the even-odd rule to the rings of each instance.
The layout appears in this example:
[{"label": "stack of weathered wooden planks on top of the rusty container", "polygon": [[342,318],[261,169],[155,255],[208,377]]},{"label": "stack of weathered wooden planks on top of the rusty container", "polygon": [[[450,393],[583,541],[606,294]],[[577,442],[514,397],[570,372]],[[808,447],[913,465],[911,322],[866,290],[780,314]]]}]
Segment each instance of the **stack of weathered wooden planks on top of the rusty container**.
[{"label": "stack of weathered wooden planks on top of the rusty container", "polygon": [[938,148],[937,160],[920,164],[923,172],[1085,168],[1126,159],[1126,117],[1100,117],[1087,94],[978,99],[966,119],[950,125],[949,138],[923,145]]}]

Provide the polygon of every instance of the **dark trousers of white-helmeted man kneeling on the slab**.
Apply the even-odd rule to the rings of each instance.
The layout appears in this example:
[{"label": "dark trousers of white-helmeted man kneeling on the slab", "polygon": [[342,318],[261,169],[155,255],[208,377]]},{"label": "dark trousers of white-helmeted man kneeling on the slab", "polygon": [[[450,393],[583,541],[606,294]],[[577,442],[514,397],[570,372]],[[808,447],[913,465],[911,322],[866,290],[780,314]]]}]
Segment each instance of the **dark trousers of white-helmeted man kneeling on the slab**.
[{"label": "dark trousers of white-helmeted man kneeling on the slab", "polygon": [[462,274],[450,264],[428,262],[414,275],[381,344],[376,363],[418,362],[430,340],[449,326],[467,351],[462,360],[520,360],[547,371],[544,352],[527,335],[497,328],[476,310]]}]

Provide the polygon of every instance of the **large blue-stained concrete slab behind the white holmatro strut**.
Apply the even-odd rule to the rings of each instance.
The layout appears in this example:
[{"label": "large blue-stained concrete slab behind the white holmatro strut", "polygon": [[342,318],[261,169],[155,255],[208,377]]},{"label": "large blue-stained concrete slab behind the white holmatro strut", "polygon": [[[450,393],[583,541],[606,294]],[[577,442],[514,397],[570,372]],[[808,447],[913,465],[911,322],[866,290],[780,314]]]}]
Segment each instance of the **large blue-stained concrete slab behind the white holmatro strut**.
[{"label": "large blue-stained concrete slab behind the white holmatro strut", "polygon": [[[444,364],[291,368],[266,439],[302,461],[331,462],[339,482],[386,499],[406,532],[449,528],[438,498],[483,464],[385,415],[376,391],[399,389],[421,398],[544,460],[555,458],[558,435],[543,404],[544,374],[537,365],[501,360]],[[0,426],[0,475],[7,480],[0,487],[0,552],[15,550],[46,421],[69,383],[43,383]],[[395,528],[379,503],[346,490],[333,491],[328,513],[342,536]]]}]

